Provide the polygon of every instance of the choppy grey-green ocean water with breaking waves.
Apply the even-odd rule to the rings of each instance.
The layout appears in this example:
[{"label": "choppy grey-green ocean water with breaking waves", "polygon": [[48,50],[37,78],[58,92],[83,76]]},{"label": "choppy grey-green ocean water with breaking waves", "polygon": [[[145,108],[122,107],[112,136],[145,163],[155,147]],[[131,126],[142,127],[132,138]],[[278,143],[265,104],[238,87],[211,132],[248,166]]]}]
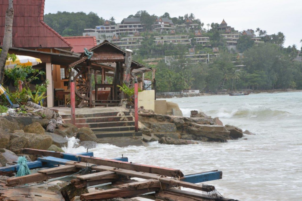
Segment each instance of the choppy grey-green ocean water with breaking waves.
[{"label": "choppy grey-green ocean water with breaking waves", "polygon": [[[99,144],[95,156],[177,168],[184,174],[220,170],[214,185],[225,197],[239,200],[302,200],[302,92],[250,94],[248,96],[200,96],[167,99],[178,103],[184,116],[199,110],[223,124],[249,130],[227,143],[201,142],[197,145],[162,145],[119,148]],[[67,152],[84,152],[72,148]],[[187,190],[187,189],[186,189]]]}]

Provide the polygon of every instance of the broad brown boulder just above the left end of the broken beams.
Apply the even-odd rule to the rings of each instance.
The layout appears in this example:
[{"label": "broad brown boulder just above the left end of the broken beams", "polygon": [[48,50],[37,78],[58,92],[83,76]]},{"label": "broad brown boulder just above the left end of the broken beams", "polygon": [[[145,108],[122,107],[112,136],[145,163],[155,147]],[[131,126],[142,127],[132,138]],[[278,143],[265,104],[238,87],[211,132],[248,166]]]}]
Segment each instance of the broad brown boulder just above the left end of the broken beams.
[{"label": "broad brown boulder just above the left end of the broken beams", "polygon": [[14,133],[19,136],[9,142],[8,149],[16,154],[20,154],[22,148],[42,149],[47,150],[52,145],[51,136],[39,135],[33,133]]}]

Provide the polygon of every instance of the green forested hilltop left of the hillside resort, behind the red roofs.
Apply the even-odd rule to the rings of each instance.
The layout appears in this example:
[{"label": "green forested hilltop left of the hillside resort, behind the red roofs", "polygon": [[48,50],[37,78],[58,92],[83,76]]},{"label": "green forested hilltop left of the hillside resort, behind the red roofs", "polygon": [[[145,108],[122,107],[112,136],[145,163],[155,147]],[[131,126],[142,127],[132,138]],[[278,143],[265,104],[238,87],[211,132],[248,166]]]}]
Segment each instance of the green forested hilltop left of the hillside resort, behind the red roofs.
[{"label": "green forested hilltop left of the hillside resort, behind the red roofs", "polygon": [[44,22],[62,36],[82,36],[84,29],[94,29],[104,24],[104,19],[96,13],[60,12],[44,15]]}]

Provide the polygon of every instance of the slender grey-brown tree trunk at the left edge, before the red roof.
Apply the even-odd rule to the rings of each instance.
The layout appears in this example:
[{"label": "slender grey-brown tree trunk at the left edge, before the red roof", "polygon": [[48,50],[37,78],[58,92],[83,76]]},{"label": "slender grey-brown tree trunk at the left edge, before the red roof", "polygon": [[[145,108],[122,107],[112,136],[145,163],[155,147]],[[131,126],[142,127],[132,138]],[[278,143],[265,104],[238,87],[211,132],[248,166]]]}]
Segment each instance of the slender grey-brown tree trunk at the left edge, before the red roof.
[{"label": "slender grey-brown tree trunk at the left edge, before the red roof", "polygon": [[5,12],[5,30],[3,37],[2,52],[0,55],[0,83],[3,83],[4,78],[4,67],[7,59],[8,49],[11,46],[12,41],[12,30],[13,30],[13,18],[14,18],[14,8],[13,0],[8,0],[8,8]]}]

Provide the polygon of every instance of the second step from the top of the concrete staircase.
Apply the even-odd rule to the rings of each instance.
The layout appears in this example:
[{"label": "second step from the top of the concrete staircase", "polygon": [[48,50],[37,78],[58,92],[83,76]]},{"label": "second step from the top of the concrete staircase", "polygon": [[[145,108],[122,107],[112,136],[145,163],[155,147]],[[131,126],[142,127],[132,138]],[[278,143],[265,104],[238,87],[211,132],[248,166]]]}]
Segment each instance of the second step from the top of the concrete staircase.
[{"label": "second step from the top of the concrete staircase", "polygon": [[[133,117],[132,116],[102,116],[102,117],[76,118],[76,124],[115,122],[115,121],[133,121]],[[63,122],[71,123],[71,119],[64,119]]]}]

